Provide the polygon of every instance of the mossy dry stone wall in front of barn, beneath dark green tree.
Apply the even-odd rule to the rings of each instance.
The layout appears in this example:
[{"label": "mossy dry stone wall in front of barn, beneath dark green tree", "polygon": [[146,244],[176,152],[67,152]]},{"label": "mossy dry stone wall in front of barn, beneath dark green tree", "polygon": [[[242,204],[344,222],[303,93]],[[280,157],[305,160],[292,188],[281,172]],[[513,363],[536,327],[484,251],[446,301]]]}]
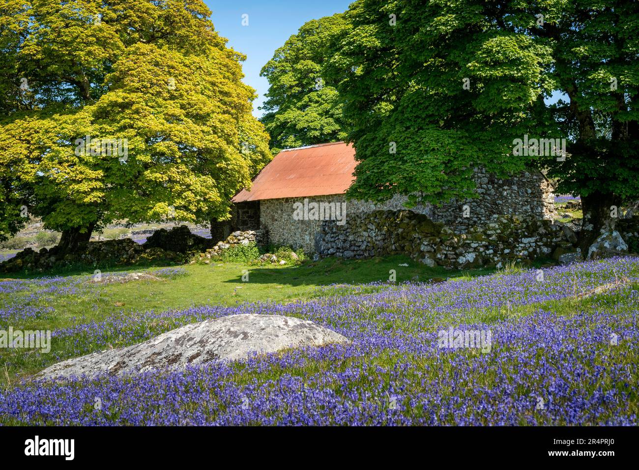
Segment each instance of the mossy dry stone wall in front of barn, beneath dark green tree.
[{"label": "mossy dry stone wall in front of barn, beneath dark green tree", "polygon": [[574,233],[550,220],[495,215],[466,233],[410,210],[357,214],[343,226],[324,222],[318,236],[321,256],[367,258],[410,255],[434,267],[472,268],[532,260],[573,249]]}]

